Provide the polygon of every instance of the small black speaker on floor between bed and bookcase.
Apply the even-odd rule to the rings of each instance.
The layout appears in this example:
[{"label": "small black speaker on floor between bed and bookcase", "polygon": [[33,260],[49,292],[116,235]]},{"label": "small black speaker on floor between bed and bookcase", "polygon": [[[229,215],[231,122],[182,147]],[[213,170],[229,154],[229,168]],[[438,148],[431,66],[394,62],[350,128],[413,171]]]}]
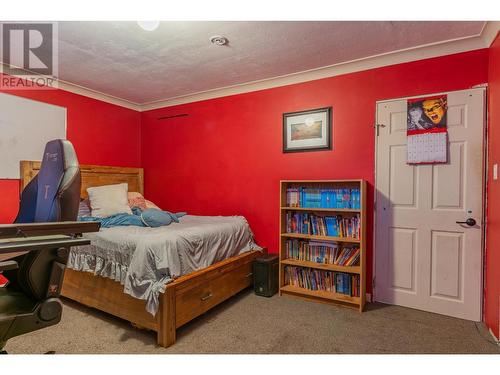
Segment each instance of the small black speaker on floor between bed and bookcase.
[{"label": "small black speaker on floor between bed and bookcase", "polygon": [[253,263],[253,288],[258,296],[272,297],[278,292],[279,261],[277,255],[266,255]]}]

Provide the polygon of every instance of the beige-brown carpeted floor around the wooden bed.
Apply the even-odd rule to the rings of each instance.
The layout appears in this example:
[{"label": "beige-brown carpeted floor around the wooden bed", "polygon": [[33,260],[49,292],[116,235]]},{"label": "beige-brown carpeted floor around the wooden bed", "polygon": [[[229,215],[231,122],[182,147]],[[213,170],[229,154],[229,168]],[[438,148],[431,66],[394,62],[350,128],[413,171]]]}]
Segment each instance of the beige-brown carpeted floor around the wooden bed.
[{"label": "beige-brown carpeted floor around the wooden bed", "polygon": [[64,301],[61,323],[11,339],[9,353],[500,353],[484,325],[399,306],[355,311],[243,291],[177,332],[154,332]]}]

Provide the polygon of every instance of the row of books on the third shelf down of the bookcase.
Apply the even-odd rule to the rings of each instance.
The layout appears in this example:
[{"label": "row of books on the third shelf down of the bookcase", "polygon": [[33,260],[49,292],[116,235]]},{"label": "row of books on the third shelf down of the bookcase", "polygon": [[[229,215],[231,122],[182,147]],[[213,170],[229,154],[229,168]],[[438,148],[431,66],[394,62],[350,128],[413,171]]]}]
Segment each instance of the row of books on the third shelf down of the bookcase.
[{"label": "row of books on the third shelf down of the bookcase", "polygon": [[302,260],[338,266],[358,266],[360,249],[355,246],[340,246],[333,242],[287,240],[285,255],[287,259]]}]

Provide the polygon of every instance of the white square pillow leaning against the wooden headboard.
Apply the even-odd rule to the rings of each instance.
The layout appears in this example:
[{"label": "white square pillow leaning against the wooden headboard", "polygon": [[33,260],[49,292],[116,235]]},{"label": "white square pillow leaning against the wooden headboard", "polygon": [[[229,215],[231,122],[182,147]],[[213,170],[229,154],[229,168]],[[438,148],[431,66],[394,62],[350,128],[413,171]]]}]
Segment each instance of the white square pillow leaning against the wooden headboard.
[{"label": "white square pillow leaning against the wooden headboard", "polygon": [[128,206],[127,192],[127,183],[88,188],[92,216],[107,217],[116,214],[132,214]]}]

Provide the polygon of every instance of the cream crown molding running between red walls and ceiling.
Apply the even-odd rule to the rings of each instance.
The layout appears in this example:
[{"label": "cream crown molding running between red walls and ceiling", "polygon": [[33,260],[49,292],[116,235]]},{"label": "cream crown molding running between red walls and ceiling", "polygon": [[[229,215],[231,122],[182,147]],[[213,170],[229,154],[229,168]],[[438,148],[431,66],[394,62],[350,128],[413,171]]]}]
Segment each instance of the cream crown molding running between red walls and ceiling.
[{"label": "cream crown molding running between red walls and ceiling", "polygon": [[[71,82],[59,80],[59,89],[77,95],[97,99],[120,107],[143,112],[152,109],[172,107],[175,105],[198,102],[202,100],[215,99],[224,96],[237,95],[252,91],[266,90],[275,87],[287,86],[296,83],[314,81],[322,78],[355,73],[384,66],[396,65],[411,61],[429,59],[433,57],[452,55],[455,53],[473,51],[489,48],[494,42],[500,30],[500,21],[488,21],[478,35],[441,41],[426,45],[420,45],[398,51],[391,51],[379,55],[364,57],[357,60],[346,61],[334,65],[324,66],[311,70],[295,72],[283,76],[266,78],[258,81],[245,82],[241,84],[215,88],[196,93],[165,98],[152,102],[136,103],[127,99],[119,98],[104,92],[93,90]],[[2,62],[3,72],[8,74],[9,68]]]}]

